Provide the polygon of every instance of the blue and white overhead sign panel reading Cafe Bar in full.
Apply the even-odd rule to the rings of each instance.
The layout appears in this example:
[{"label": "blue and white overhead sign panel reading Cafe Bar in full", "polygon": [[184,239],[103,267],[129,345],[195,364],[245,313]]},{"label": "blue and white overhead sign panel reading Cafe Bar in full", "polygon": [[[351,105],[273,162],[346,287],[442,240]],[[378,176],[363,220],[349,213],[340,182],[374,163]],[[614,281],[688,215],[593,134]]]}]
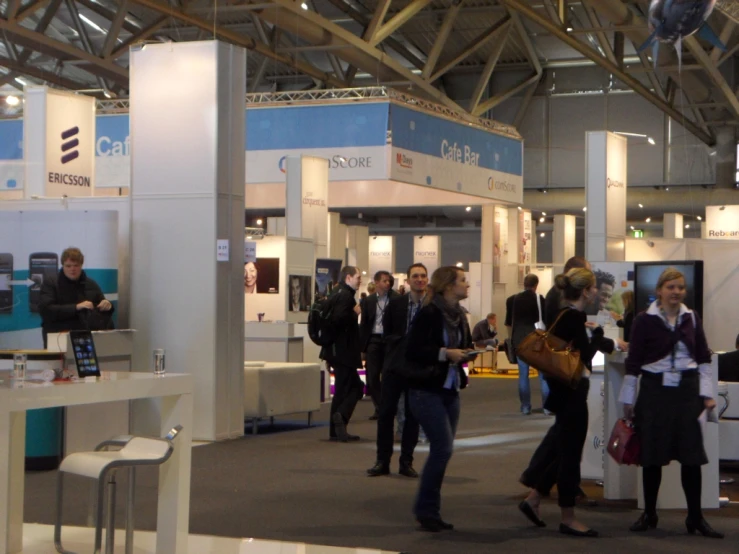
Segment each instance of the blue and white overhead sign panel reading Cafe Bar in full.
[{"label": "blue and white overhead sign panel reading Cafe Bar in full", "polygon": [[523,142],[390,106],[390,178],[512,203],[523,202]]}]

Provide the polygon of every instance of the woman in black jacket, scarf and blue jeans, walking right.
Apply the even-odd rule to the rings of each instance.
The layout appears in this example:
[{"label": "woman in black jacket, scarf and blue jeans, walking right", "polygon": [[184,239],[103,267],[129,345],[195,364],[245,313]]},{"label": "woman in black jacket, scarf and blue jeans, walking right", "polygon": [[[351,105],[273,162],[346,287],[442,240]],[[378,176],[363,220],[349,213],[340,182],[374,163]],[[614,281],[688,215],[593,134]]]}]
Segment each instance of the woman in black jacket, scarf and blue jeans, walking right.
[{"label": "woman in black jacket, scarf and blue jeans, walking right", "polygon": [[459,305],[469,288],[457,267],[434,271],[425,306],[408,334],[406,359],[416,373],[409,376],[408,403],[429,439],[413,512],[421,528],[431,532],[454,528],[441,519],[441,484],[459,422],[459,390],[467,386],[462,363],[472,359],[470,328]]}]

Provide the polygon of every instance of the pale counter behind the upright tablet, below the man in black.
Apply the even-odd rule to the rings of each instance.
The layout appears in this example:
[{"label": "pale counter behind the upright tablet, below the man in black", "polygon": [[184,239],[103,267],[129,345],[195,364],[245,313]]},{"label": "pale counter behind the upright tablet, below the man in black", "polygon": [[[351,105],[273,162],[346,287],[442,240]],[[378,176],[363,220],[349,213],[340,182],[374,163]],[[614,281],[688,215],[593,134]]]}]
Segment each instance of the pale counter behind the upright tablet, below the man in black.
[{"label": "pale counter behind the upright tablet, below the man in black", "polygon": [[[93,331],[95,352],[101,371],[131,371],[133,356],[132,329]],[[76,371],[69,333],[50,333],[48,349],[64,354],[65,366]],[[100,413],[96,407],[67,408],[64,429],[64,453],[93,450],[102,441],[115,435],[127,435],[131,429],[131,408],[128,402],[114,402]]]}]

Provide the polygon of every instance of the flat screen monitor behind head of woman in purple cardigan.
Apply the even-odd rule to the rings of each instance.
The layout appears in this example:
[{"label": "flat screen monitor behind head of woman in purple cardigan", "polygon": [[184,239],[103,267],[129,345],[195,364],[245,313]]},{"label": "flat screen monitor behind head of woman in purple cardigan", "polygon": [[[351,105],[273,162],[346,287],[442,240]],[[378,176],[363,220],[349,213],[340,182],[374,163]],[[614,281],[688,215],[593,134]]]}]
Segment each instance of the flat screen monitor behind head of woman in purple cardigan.
[{"label": "flat screen monitor behind head of woman in purple cardigan", "polygon": [[649,308],[657,299],[657,281],[667,268],[685,275],[686,295],[683,303],[703,317],[703,261],[636,262],[634,264],[634,296],[636,313]]}]

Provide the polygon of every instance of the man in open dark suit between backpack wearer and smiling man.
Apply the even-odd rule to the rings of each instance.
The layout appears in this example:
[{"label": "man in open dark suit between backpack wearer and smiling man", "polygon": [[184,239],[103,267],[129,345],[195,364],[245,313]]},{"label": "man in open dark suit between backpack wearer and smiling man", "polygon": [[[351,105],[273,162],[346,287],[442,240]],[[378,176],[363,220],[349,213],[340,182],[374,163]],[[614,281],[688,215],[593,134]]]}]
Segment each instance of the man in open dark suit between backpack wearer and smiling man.
[{"label": "man in open dark suit between backpack wearer and smiling man", "polygon": [[362,339],[365,370],[367,372],[367,388],[375,406],[375,413],[370,419],[377,419],[382,396],[382,364],[385,359],[385,346],[382,341],[382,316],[390,298],[395,294],[392,290],[393,277],[388,271],[375,273],[375,293],[365,298],[361,304],[362,319],[359,335]]}]

